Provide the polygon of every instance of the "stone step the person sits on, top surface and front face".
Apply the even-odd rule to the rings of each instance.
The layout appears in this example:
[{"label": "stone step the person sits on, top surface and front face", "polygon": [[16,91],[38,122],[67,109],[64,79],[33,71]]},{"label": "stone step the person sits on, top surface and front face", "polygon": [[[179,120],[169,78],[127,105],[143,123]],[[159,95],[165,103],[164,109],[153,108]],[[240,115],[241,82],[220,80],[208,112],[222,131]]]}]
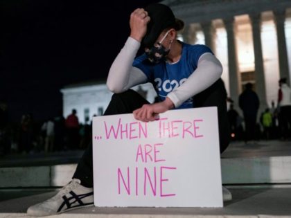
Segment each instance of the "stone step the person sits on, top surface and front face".
[{"label": "stone step the person sits on, top surface and front face", "polygon": [[[47,165],[30,159],[24,166],[8,167],[8,161],[2,161],[6,167],[0,167],[0,188],[61,187],[71,180],[79,153],[67,164],[58,164],[63,156],[50,157],[53,161]],[[224,184],[291,183],[291,142],[231,143],[222,154],[221,167]]]}]

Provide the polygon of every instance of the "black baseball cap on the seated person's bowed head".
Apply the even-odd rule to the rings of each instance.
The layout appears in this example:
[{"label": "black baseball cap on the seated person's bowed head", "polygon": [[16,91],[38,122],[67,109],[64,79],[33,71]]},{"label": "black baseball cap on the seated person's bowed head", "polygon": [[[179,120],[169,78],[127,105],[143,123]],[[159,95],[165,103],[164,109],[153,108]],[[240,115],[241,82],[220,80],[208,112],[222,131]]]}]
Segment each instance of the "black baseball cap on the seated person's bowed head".
[{"label": "black baseball cap on the seated person's bowed head", "polygon": [[152,3],[145,7],[145,11],[148,12],[150,22],[148,22],[147,32],[141,44],[150,48],[155,44],[157,38],[164,29],[175,27],[176,18],[173,11],[168,6],[161,3]]}]

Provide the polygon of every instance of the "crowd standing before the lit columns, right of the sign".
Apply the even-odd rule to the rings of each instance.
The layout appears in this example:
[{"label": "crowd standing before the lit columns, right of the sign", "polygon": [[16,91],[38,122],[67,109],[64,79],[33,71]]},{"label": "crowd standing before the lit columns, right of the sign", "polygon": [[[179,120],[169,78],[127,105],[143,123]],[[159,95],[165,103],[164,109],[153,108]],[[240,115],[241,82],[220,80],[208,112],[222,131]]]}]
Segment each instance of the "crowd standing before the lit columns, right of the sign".
[{"label": "crowd standing before the lit columns, right of the sign", "polygon": [[[259,113],[260,100],[251,83],[245,84],[245,90],[238,98],[240,111],[230,105],[227,112],[233,140],[245,143],[256,140],[291,139],[291,89],[286,78],[279,80],[278,101],[272,101]],[[240,115],[241,114],[241,115]]]}]

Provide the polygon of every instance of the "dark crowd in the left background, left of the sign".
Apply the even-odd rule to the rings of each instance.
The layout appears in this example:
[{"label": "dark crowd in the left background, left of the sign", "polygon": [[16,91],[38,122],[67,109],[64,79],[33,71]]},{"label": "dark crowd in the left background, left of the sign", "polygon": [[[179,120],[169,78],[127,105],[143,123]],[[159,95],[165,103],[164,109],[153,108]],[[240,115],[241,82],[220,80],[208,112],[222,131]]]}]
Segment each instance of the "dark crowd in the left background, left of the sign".
[{"label": "dark crowd in the left background, left of the sign", "polygon": [[91,123],[81,124],[76,109],[67,118],[55,116],[41,122],[27,113],[12,124],[6,108],[1,107],[0,154],[85,149],[91,140]]}]

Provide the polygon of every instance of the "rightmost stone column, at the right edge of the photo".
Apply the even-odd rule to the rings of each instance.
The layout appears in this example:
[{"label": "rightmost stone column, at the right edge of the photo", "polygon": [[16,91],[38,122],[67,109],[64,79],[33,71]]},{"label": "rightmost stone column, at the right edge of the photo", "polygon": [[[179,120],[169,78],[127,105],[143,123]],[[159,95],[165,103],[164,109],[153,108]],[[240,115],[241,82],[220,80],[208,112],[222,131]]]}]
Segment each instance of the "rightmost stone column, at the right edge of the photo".
[{"label": "rightmost stone column, at the right edge of the photo", "polygon": [[278,52],[279,52],[279,71],[280,78],[287,78],[290,84],[289,66],[288,66],[288,53],[285,37],[285,10],[275,10],[274,18],[277,30]]}]

